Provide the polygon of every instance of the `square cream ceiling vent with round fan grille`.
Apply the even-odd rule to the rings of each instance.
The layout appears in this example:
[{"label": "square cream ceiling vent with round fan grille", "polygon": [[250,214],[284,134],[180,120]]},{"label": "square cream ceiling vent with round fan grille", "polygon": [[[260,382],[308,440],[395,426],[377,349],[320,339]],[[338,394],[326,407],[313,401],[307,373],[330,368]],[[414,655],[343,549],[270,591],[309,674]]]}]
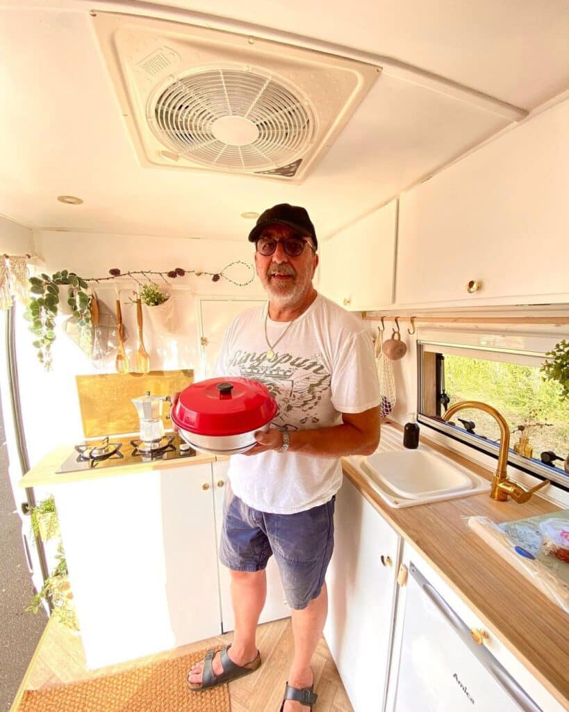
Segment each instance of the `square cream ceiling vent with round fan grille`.
[{"label": "square cream ceiling vent with round fan grille", "polygon": [[300,182],[378,67],[146,17],[93,18],[145,166]]}]

